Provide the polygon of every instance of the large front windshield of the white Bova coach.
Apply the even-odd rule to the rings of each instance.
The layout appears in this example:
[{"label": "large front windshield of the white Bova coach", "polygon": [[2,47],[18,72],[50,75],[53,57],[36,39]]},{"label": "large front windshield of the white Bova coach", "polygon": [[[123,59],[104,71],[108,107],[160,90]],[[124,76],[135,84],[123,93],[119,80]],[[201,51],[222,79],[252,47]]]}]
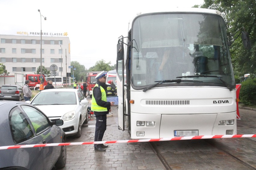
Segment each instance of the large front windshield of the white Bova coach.
[{"label": "large front windshield of the white Bova coach", "polygon": [[235,88],[221,16],[199,13],[141,15],[133,21],[131,36],[131,84],[134,89],[177,78],[190,81],[178,84],[166,81],[161,86],[225,87],[228,84]]}]

